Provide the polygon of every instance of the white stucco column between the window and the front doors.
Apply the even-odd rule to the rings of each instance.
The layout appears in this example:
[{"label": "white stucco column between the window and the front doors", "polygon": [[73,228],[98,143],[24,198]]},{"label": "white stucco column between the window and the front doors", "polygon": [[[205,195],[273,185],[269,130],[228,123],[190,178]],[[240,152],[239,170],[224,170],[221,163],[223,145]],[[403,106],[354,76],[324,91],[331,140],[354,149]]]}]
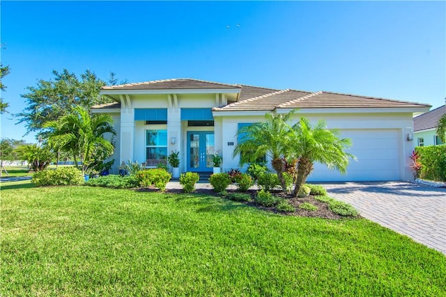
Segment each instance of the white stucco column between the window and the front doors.
[{"label": "white stucco column between the window and the front doors", "polygon": [[[175,144],[172,144],[172,138],[175,138]],[[180,168],[185,166],[186,154],[181,150],[181,112],[179,108],[171,107],[167,109],[167,155],[172,151],[179,151]],[[183,170],[180,170],[183,172]]]}]

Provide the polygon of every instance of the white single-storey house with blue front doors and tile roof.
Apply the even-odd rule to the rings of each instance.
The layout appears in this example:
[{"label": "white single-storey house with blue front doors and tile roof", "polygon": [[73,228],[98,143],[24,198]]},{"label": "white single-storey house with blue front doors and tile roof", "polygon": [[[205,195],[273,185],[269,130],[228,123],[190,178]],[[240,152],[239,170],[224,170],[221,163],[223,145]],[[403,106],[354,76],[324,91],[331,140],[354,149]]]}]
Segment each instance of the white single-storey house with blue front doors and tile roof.
[{"label": "white single-storey house with blue front doors and tile roof", "polygon": [[[223,157],[222,170],[240,168],[233,157],[238,129],[265,120],[265,113],[289,113],[313,123],[325,120],[351,138],[346,175],[316,164],[309,181],[390,181],[413,178],[408,156],[414,148],[413,114],[428,104],[331,92],[275,90],[197,79],[166,79],[105,86],[102,95],[116,103],[93,106],[93,113],[114,118],[117,135],[114,172],[123,161],[156,166],[174,150],[182,172],[210,172],[212,155]],[[269,161],[269,160],[268,160]],[[246,165],[243,169],[246,168]]]}]

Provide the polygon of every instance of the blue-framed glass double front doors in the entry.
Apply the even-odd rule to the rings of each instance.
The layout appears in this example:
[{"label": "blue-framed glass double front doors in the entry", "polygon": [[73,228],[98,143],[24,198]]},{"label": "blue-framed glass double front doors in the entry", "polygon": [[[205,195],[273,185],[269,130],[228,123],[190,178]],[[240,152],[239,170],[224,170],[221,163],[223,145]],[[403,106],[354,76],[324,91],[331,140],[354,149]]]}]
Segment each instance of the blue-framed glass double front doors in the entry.
[{"label": "blue-framed glass double front doors in the entry", "polygon": [[187,171],[212,171],[214,163],[214,132],[187,132]]}]

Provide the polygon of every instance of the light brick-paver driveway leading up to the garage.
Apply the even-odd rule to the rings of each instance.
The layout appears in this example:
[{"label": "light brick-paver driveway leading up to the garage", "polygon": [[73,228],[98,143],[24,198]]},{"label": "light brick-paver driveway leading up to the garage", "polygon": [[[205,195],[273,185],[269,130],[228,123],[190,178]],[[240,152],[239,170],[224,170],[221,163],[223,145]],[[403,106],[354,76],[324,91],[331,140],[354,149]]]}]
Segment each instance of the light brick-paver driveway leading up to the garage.
[{"label": "light brick-paver driveway leading up to the garage", "polygon": [[446,188],[408,182],[322,184],[361,216],[446,254]]}]

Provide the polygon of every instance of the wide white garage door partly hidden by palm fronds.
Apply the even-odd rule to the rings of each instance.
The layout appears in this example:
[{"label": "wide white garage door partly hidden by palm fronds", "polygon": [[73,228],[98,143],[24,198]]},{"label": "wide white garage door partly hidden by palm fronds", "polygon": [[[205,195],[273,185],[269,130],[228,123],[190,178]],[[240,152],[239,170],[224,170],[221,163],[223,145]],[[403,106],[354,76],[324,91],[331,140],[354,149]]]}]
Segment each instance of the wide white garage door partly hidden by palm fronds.
[{"label": "wide white garage door partly hidden by palm fronds", "polygon": [[348,150],[357,161],[351,161],[346,175],[315,164],[309,182],[392,181],[399,180],[400,136],[397,129],[342,130],[342,138],[351,138]]}]

